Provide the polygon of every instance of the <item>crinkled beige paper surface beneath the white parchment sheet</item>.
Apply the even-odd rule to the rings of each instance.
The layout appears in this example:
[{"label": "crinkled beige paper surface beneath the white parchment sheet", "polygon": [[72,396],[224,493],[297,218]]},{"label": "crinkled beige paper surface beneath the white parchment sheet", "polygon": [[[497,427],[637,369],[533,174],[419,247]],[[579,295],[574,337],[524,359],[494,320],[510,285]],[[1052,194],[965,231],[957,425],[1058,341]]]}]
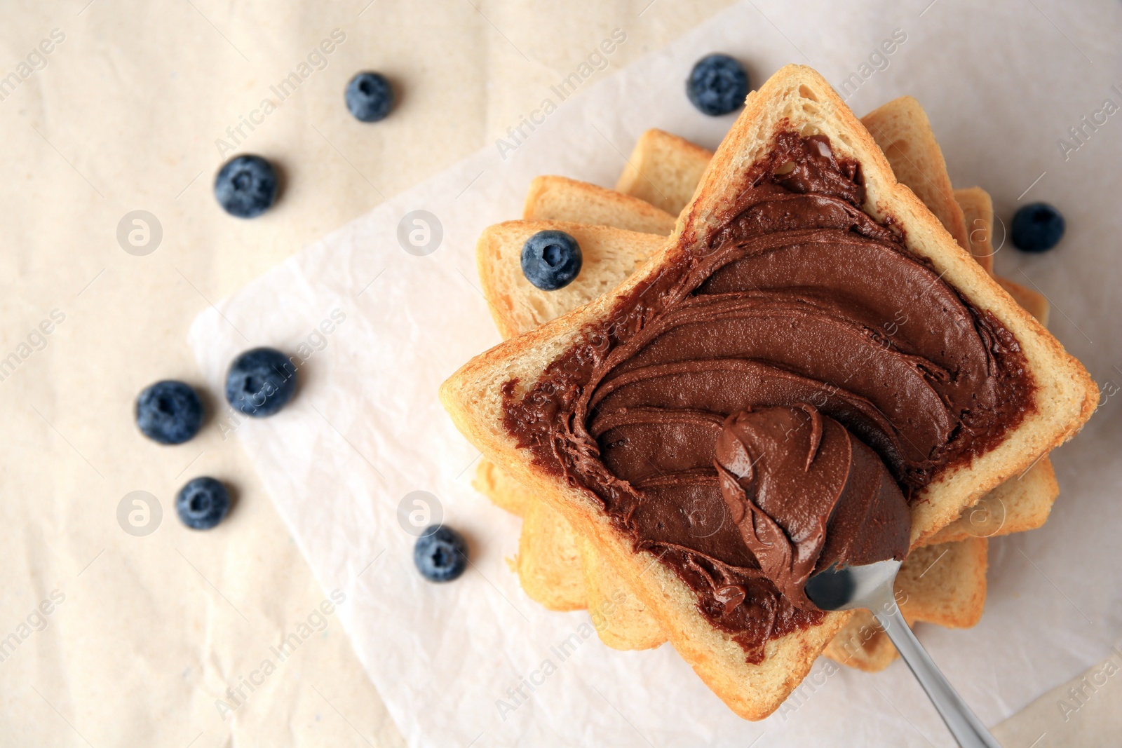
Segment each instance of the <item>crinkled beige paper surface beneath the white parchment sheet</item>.
[{"label": "crinkled beige paper surface beneath the white parchment sheet", "polygon": [[[4,8],[3,74],[52,29],[65,40],[0,101],[0,354],[18,350],[52,310],[65,321],[0,381],[0,637],[53,590],[65,601],[0,662],[0,744],[401,745],[333,617],[246,691],[245,707],[218,715],[214,699],[325,593],[237,440],[223,440],[211,419],[188,444],[151,444],[135,430],[132,399],[159,378],[201,384],[184,340],[210,302],[491,142],[611,28],[628,30],[611,61],[625,65],[726,4]],[[256,221],[227,216],[210,191],[222,160],[214,140],[333,28],[347,39],[327,67],[245,144],[283,168],[282,201]],[[346,81],[364,68],[386,72],[402,92],[378,126],[342,108]],[[138,209],[163,227],[147,257],[116,239],[121,216]],[[206,534],[174,517],[174,492],[195,474],[237,487],[234,511]],[[148,537],[117,525],[118,502],[134,490],[164,508]],[[1109,745],[1120,691],[1110,678],[1066,723],[1046,694],[1000,733],[1018,746]]]}]

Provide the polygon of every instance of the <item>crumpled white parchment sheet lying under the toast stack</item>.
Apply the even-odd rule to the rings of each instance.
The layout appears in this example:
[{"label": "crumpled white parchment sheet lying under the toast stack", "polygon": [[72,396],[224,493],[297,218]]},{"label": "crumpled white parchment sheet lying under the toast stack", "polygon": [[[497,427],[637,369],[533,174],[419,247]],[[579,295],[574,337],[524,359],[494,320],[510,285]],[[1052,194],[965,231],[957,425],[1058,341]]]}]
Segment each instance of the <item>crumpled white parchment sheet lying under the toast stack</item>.
[{"label": "crumpled white parchment sheet lying under the toast stack", "polygon": [[[524,126],[521,142],[507,140],[502,155],[488,146],[383,203],[195,322],[190,342],[215,391],[242,349],[306,357],[286,410],[229,426],[323,587],[349,595],[343,624],[412,746],[950,745],[899,662],[866,675],[820,661],[780,712],[751,723],[670,646],[618,653],[581,638],[591,632],[586,612],[548,612],[519,589],[505,561],[519,520],[471,489],[478,452],[438,403],[441,381],[498,342],[478,286],[480,230],[518,218],[535,175],[611,186],[650,127],[715,147],[734,116],[701,116],[683,93],[690,66],[710,52],[744,61],[754,85],[785,63],[811,64],[836,87],[848,81],[858,114],[912,94],[956,186],[988,190],[1006,221],[1031,200],[1064,211],[1059,249],[1033,257],[1005,247],[997,271],[1051,299],[1055,333],[1104,389],[1104,404],[1054,455],[1063,493],[1048,525],[991,543],[982,622],[919,634],[988,724],[1122,639],[1122,394],[1106,397],[1122,382],[1122,116],[1101,112],[1107,99],[1122,104],[1122,12],[1107,3],[1097,15],[1047,3],[908,4],[889,13],[746,3],[624,71],[591,72],[576,96],[543,87],[555,111],[534,114],[544,123]],[[896,29],[905,40],[879,53]],[[1098,123],[1084,127],[1084,117]],[[420,216],[427,237],[414,211],[430,214]],[[411,230],[420,231],[413,244]],[[429,584],[413,569],[398,505],[419,490],[438,497],[444,520],[469,538],[473,563],[456,583]],[[574,632],[580,645],[559,656]]]}]

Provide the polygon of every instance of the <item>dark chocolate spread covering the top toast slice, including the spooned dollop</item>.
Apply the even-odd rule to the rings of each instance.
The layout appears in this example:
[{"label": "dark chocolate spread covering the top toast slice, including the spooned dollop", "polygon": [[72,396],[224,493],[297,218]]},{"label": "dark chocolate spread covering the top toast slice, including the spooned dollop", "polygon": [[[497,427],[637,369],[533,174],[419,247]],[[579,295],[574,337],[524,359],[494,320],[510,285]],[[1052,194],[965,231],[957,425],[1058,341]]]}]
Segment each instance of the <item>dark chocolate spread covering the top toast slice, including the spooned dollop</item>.
[{"label": "dark chocolate spread covering the top toast slice, including the spooned dollop", "polygon": [[[807,575],[899,557],[900,500],[1032,407],[1014,336],[863,205],[859,165],[781,133],[707,242],[683,237],[537,381],[503,388],[518,443],[672,569],[753,663],[821,620]],[[799,486],[773,478],[810,444],[765,446],[760,414],[804,416],[808,433],[820,419]],[[733,441],[773,453],[766,472],[745,472]]]}]

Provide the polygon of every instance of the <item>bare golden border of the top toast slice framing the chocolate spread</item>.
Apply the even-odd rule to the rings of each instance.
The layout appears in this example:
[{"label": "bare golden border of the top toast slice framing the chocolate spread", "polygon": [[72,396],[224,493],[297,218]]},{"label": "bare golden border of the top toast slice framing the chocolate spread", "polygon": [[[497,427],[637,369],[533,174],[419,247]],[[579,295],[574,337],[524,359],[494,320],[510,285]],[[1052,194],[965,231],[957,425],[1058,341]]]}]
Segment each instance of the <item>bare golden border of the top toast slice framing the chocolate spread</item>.
[{"label": "bare golden border of the top toast slice framing the chocolate spread", "polygon": [[785,131],[826,136],[839,158],[858,164],[864,176],[864,210],[882,223],[888,220],[900,227],[910,252],[923,258],[946,283],[1012,333],[1033,378],[1031,412],[996,446],[969,464],[938,471],[919,493],[912,507],[913,542],[934,534],[985,491],[1027,468],[1032,455],[1074,434],[1096,400],[1086,371],[988,278],[911,191],[896,182],[872,137],[826,81],[800,66],[783,68],[748,96],[665,249],[619,288],[477,357],[441,388],[445,408],[469,440],[596,544],[655,613],[683,658],[734,711],[748,719],[761,719],[781,703],[848,616],[826,615],[818,625],[767,641],[760,664],[747,662],[744,649],[701,616],[696,593],[670,567],[646,551],[635,551],[587,490],[560,480],[518,446],[503,425],[504,389],[508,397],[527,391],[553,361],[581,342],[582,332],[603,325],[619,304],[649,287],[671,264],[688,262],[703,251],[706,241],[734,209],[743,174],[764,159],[779,133]]}]

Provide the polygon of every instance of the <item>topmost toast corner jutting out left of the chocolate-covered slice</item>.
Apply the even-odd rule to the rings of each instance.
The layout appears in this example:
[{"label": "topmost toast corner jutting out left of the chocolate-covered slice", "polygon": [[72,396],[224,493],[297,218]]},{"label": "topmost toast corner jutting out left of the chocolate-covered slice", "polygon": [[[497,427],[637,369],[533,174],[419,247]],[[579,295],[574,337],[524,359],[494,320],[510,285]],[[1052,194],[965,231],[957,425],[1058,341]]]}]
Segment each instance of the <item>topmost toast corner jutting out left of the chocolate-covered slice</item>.
[{"label": "topmost toast corner jutting out left of the chocolate-covered slice", "polygon": [[616,192],[678,216],[693,196],[712,151],[677,135],[651,129],[640,136]]}]

